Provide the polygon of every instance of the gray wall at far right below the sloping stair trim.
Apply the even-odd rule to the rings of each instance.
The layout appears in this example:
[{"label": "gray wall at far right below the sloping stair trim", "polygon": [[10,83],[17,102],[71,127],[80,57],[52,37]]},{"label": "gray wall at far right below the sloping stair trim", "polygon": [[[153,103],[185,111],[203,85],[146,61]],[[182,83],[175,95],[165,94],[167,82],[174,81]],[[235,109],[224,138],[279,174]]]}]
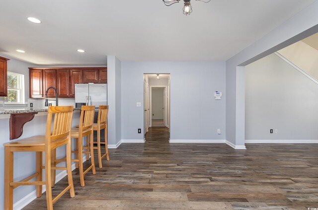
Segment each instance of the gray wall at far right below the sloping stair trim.
[{"label": "gray wall at far right below the sloping stair trim", "polygon": [[318,140],[315,82],[275,54],[247,65],[245,78],[246,140]]}]

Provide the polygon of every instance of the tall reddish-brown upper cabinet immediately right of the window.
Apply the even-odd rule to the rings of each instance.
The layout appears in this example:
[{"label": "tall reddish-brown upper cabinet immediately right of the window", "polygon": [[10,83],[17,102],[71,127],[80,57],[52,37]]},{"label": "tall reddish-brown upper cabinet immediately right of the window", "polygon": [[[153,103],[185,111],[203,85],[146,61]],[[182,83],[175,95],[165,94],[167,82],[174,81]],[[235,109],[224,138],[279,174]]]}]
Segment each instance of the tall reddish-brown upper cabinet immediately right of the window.
[{"label": "tall reddish-brown upper cabinet immediately right of the window", "polygon": [[30,98],[43,97],[43,70],[29,68]]}]

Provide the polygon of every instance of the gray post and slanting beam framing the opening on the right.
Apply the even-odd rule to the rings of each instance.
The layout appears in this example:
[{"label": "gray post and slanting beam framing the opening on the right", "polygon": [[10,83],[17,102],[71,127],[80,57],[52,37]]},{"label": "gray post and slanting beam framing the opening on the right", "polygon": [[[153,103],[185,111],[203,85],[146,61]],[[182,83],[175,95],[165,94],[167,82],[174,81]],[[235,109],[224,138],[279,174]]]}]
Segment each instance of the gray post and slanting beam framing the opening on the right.
[{"label": "gray post and slanting beam framing the opening on the right", "polygon": [[[244,98],[241,96],[244,77],[238,66],[245,66],[290,44],[318,32],[318,1],[283,22],[271,32],[233,56],[226,62],[226,139],[244,145]],[[239,89],[237,89],[239,87]]]}]

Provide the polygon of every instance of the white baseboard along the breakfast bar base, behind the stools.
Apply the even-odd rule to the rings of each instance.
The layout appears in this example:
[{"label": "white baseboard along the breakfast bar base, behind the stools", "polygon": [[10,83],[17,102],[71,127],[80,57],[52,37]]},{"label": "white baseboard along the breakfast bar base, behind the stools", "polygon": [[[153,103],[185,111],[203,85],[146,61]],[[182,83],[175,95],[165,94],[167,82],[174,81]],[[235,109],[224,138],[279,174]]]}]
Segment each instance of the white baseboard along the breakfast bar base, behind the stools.
[{"label": "white baseboard along the breakfast bar base, behind the stools", "polygon": [[[83,157],[83,162],[86,161],[86,156]],[[72,171],[75,169],[75,163],[72,164]],[[66,177],[67,175],[67,171],[62,171],[61,173],[56,175],[56,181],[55,183],[58,183],[59,181],[61,181],[61,179],[63,179],[64,177]],[[42,186],[42,194],[46,191],[45,189],[45,185]],[[30,204],[33,200],[35,200],[36,197],[36,191],[32,191],[31,193],[29,193],[28,195],[24,196],[22,199],[20,199],[19,201],[15,202],[13,204],[13,210],[21,210],[24,207],[26,207],[28,204]]]}]

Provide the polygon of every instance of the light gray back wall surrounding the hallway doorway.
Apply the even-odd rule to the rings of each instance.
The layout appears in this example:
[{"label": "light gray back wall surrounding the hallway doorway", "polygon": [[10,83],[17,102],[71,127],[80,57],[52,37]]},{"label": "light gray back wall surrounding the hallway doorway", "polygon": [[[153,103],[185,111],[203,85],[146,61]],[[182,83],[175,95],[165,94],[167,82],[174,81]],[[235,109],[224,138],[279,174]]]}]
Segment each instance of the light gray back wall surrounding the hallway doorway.
[{"label": "light gray back wall surrounding the hallway doorway", "polygon": [[[141,140],[143,74],[170,73],[171,140],[224,140],[224,62],[122,62],[122,139]],[[215,100],[214,92],[223,92]],[[220,128],[222,135],[217,134]]]}]

